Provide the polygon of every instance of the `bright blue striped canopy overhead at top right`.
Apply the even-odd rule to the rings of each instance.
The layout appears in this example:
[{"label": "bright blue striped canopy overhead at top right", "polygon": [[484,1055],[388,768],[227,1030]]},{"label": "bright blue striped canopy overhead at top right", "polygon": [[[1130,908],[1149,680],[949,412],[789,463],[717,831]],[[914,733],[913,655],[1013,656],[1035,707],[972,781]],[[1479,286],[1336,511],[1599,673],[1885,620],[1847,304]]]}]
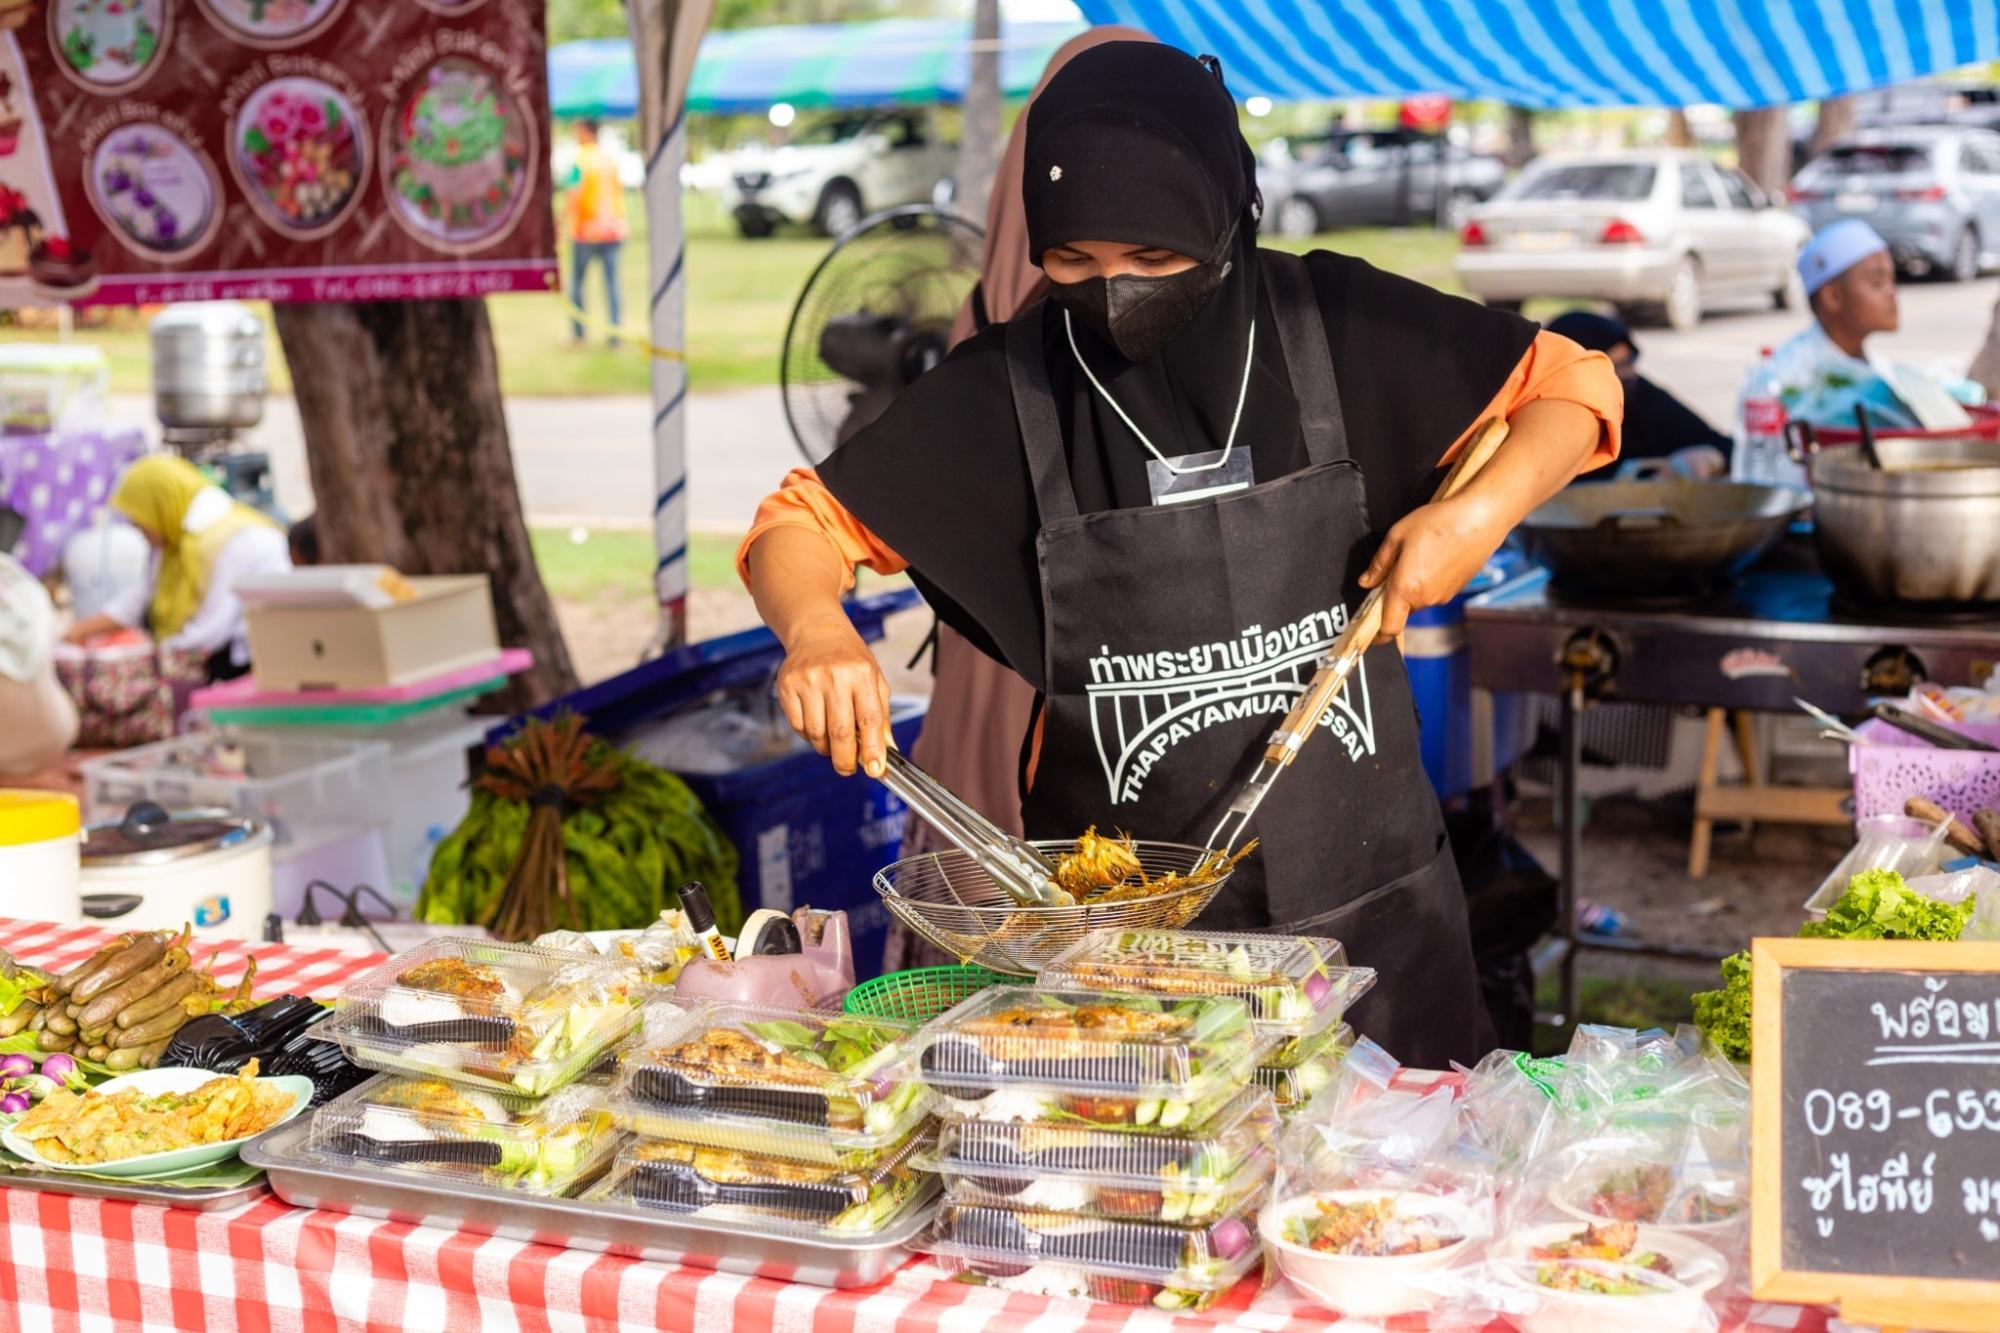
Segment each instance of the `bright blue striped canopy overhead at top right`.
[{"label": "bright blue striped canopy overhead at top right", "polygon": [[1772,106],[2000,58],[2000,0],[1078,0],[1222,58],[1230,90]]}]

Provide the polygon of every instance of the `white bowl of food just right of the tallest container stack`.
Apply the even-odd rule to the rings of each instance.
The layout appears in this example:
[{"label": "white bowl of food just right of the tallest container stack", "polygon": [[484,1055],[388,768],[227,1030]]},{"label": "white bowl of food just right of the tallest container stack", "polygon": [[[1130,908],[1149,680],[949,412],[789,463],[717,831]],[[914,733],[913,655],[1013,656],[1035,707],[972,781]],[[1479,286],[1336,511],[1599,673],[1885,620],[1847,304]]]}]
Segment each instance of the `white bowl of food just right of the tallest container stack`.
[{"label": "white bowl of food just right of the tallest container stack", "polygon": [[1432,1279],[1482,1227],[1444,1195],[1334,1189],[1264,1209],[1258,1229],[1292,1285],[1342,1315],[1374,1319],[1436,1309]]}]

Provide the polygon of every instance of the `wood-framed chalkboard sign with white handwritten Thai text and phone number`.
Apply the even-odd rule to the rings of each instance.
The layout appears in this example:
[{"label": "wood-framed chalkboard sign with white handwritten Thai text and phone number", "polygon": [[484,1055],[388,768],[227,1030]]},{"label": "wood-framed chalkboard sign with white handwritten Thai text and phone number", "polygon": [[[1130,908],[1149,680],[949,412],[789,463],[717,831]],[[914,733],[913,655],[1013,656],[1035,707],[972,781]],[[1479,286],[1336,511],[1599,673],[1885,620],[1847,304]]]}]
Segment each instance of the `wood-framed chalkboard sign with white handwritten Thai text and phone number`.
[{"label": "wood-framed chalkboard sign with white handwritten Thai text and phone number", "polygon": [[1756,941],[1752,989],[1756,1295],[2000,1327],[2000,945]]}]

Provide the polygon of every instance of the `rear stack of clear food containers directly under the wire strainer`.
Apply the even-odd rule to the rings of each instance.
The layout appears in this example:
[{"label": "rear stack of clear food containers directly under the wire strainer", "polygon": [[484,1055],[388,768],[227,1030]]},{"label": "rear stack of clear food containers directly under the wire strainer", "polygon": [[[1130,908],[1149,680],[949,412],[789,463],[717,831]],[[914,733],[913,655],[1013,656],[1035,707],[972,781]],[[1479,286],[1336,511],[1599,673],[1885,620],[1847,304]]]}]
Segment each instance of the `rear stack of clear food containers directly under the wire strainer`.
[{"label": "rear stack of clear food containers directly under the wire strainer", "polygon": [[1346,1013],[1374,987],[1374,969],[1348,967],[1338,939],[1214,931],[1094,931],[1042,971],[1044,989],[1132,991],[1162,999],[1234,995],[1274,1037],[1256,1069],[1278,1115],[1290,1119],[1322,1093],[1354,1047]]}]

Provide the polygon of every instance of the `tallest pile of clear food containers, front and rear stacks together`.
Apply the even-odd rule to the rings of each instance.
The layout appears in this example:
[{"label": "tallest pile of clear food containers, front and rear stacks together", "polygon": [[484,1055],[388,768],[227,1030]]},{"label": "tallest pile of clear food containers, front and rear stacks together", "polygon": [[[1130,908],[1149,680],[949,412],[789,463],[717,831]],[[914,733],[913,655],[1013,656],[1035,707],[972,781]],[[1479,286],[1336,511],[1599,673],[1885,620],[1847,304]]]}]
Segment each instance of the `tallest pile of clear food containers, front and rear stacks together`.
[{"label": "tallest pile of clear food containers, front and rear stacks together", "polygon": [[1198,1309],[1250,1273],[1278,1105],[1324,1081],[1374,973],[1334,941],[1100,931],[1034,991],[926,1029],[946,1183],[922,1245],[1048,1295]]}]

